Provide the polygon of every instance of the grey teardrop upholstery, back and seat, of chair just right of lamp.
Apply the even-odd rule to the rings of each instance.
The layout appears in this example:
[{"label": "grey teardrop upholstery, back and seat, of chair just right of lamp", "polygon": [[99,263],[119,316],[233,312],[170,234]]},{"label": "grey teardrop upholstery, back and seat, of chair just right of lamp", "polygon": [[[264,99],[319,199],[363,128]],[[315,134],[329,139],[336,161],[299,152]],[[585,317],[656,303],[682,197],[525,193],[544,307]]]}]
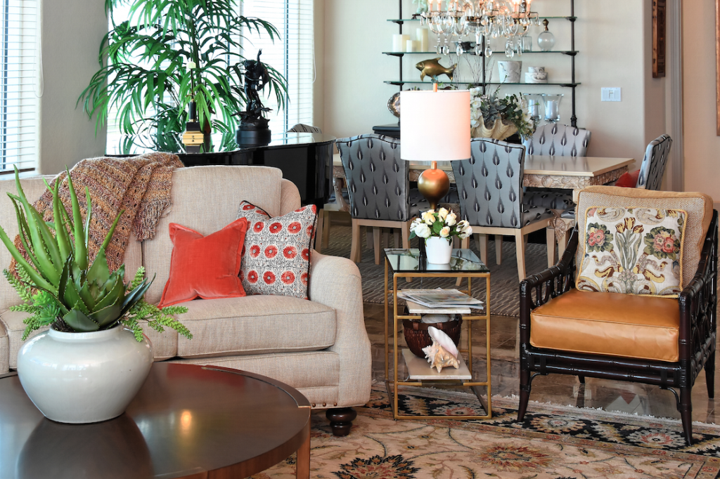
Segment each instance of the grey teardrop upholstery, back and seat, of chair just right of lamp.
[{"label": "grey teardrop upholstery, back and seat, of chair just right of lamp", "polygon": [[523,204],[525,148],[490,138],[473,138],[471,158],[452,162],[462,219],[472,225],[521,228],[552,216]]}]

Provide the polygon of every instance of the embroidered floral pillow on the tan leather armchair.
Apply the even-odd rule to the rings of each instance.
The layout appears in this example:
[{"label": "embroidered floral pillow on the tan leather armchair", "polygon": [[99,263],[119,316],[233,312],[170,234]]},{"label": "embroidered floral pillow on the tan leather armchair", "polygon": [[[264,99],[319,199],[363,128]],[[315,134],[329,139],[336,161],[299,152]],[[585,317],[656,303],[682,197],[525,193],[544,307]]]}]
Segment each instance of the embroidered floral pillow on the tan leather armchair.
[{"label": "embroidered floral pillow on the tan leather armchair", "polygon": [[677,209],[588,208],[575,287],[678,296],[683,290],[685,217]]}]

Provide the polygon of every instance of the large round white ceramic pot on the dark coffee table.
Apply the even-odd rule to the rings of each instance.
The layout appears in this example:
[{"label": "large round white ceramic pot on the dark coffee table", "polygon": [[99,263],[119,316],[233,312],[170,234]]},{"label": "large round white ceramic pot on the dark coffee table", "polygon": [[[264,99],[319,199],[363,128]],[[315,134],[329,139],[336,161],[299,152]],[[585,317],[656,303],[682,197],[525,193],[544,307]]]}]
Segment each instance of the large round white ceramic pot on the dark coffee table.
[{"label": "large round white ceramic pot on the dark coffee table", "polygon": [[83,424],[120,416],[150,373],[153,350],[130,329],[89,333],[52,327],[29,339],[17,355],[17,375],[48,419]]}]

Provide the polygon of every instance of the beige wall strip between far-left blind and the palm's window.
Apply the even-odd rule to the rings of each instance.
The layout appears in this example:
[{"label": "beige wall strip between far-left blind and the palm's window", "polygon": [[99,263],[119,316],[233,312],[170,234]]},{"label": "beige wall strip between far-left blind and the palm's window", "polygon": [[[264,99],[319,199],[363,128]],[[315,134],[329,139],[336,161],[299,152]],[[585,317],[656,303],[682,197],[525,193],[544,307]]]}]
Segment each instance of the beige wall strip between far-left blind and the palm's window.
[{"label": "beige wall strip between far-left blind and the palm's window", "polygon": [[98,70],[100,41],[107,33],[103,1],[45,0],[40,99],[42,174],[54,174],[83,158],[103,155],[105,130],[95,136],[95,122],[76,109],[80,93]]}]

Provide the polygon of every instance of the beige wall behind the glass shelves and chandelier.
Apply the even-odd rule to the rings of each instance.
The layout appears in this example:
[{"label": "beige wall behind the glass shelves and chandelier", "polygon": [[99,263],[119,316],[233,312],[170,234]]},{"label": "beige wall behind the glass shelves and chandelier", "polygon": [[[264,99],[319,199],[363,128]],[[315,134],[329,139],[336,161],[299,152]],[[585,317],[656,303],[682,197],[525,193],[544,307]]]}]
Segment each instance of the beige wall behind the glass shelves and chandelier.
[{"label": "beige wall behind the glass shelves and chandelier", "polygon": [[[652,79],[650,70],[650,2],[577,0],[575,4],[575,48],[580,50],[576,81],[582,83],[577,87],[576,109],[578,125],[593,134],[588,154],[636,158],[639,165],[647,142],[665,132],[665,81]],[[537,1],[534,9],[548,16],[567,15],[570,2]],[[403,17],[413,11],[410,0],[404,0]],[[387,19],[397,16],[395,0],[372,2],[372,8],[366,2],[325,0],[323,131],[345,137],[372,132],[373,125],[395,120],[386,104],[397,87],[382,82],[397,78],[398,60],[382,52],[390,50],[392,35],[397,33],[397,26]],[[416,27],[416,23],[405,24],[404,32],[412,33]],[[552,20],[550,29],[556,48],[570,50],[570,23]],[[534,41],[539,32],[538,27],[531,30]],[[501,47],[496,45],[496,49]],[[419,79],[413,64],[425,58],[406,55],[405,79]],[[570,58],[564,55],[531,54],[513,60],[523,61],[523,71],[528,65],[544,65],[551,81],[570,81]],[[448,65],[448,60],[443,58],[441,63]],[[462,75],[472,78],[464,65],[462,59]],[[495,78],[497,74],[495,67]],[[601,102],[603,86],[622,88],[622,101]],[[521,91],[564,93],[561,117],[570,124],[569,88],[528,86]]]}]

